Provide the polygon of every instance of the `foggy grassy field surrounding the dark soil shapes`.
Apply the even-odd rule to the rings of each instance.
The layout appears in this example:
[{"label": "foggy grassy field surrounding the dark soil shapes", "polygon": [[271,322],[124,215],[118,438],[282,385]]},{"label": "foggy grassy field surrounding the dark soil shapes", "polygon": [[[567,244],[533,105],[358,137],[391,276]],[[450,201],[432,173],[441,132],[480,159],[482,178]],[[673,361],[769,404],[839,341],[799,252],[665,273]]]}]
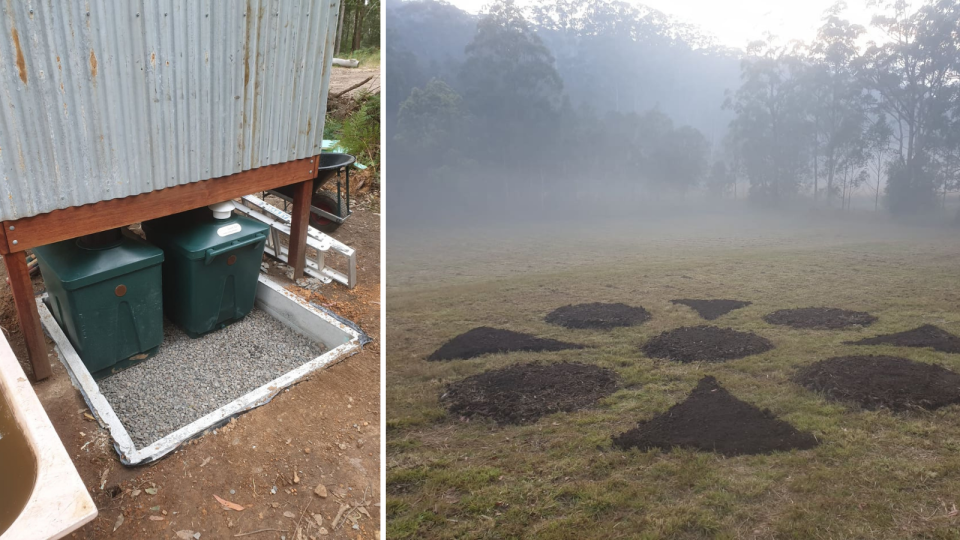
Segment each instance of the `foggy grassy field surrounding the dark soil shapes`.
[{"label": "foggy grassy field surrounding the dark soil shapes", "polygon": [[[389,538],[960,539],[960,406],[870,412],[789,380],[800,366],[846,354],[960,371],[960,355],[843,344],[923,323],[960,334],[960,238],[879,222],[801,221],[803,229],[768,216],[616,222],[564,235],[555,226],[390,231]],[[705,324],[670,303],[684,297],[752,301],[714,324],[756,332],[776,348],[723,364],[644,357],[639,346],[650,337]],[[591,301],[642,305],[653,317],[612,331],[543,322],[556,307]],[[879,321],[822,331],[761,319],[805,306],[869,311]],[[588,348],[424,360],[480,325]],[[591,409],[525,426],[465,422],[440,406],[450,381],[535,360],[610,368],[622,387]],[[682,401],[708,374],[813,432],[820,446],[735,458],[611,446],[611,435]]]}]

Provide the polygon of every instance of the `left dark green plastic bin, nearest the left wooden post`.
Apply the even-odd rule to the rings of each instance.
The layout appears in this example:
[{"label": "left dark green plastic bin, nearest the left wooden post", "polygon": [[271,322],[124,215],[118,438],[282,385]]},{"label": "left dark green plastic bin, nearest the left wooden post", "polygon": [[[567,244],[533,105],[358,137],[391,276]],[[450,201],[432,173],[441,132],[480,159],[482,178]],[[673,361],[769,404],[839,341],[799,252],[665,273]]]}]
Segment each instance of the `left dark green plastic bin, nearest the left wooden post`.
[{"label": "left dark green plastic bin, nearest the left wooden post", "polygon": [[157,352],[163,341],[163,251],[115,229],[33,252],[47,307],[94,378]]}]

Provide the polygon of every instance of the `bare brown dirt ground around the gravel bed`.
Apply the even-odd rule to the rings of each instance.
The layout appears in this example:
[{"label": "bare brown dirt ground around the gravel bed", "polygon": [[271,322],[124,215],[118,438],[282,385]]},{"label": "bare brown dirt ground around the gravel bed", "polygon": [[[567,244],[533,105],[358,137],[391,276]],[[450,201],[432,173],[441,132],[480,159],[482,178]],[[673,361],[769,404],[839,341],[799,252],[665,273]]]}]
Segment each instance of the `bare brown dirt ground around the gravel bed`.
[{"label": "bare brown dirt ground around the gravel bed", "polygon": [[[274,529],[249,538],[299,540],[298,526],[304,539],[379,537],[380,217],[362,206],[334,235],[357,250],[356,289],[333,283],[305,292],[374,341],[155,464],[120,464],[109,434],[86,416],[80,393],[51,353],[53,376],[34,389],[100,512],[70,538],[168,539],[187,530],[219,539]],[[34,288],[42,288],[39,277]],[[0,290],[0,326],[29,374],[8,286]],[[48,346],[52,351],[49,340]],[[320,484],[325,498],[314,494]],[[244,509],[226,510],[214,496]],[[356,519],[356,528],[341,519],[346,523],[334,529],[341,504],[349,505],[344,515]]]}]

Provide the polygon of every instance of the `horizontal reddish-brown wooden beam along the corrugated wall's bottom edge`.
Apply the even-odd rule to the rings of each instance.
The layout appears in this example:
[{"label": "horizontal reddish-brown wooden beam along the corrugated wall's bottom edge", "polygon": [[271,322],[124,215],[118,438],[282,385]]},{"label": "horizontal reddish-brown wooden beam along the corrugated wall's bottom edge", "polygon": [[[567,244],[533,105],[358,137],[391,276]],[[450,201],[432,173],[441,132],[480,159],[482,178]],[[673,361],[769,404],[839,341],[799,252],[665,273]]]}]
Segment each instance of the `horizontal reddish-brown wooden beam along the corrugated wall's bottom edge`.
[{"label": "horizontal reddish-brown wooden beam along the corrugated wall's bottom edge", "polygon": [[[312,179],[313,158],[288,161],[229,176],[169,187],[141,195],[54,210],[15,221],[4,221],[5,248],[23,252],[85,234],[185,212],[258,191]],[[11,227],[13,229],[11,230]],[[0,248],[0,252],[3,248]]]}]

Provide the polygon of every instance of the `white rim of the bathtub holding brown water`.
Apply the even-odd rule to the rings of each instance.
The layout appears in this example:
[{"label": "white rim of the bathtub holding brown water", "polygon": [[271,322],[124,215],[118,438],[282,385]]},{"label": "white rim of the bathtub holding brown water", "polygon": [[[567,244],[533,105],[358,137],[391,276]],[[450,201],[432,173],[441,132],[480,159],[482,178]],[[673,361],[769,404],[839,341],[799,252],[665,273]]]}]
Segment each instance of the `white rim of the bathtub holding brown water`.
[{"label": "white rim of the bathtub holding brown water", "polygon": [[[66,448],[20,368],[10,344],[0,335],[0,400],[13,414],[36,460],[37,474],[26,506],[0,540],[62,538],[97,516]],[[0,464],[0,478],[3,475]]]}]

